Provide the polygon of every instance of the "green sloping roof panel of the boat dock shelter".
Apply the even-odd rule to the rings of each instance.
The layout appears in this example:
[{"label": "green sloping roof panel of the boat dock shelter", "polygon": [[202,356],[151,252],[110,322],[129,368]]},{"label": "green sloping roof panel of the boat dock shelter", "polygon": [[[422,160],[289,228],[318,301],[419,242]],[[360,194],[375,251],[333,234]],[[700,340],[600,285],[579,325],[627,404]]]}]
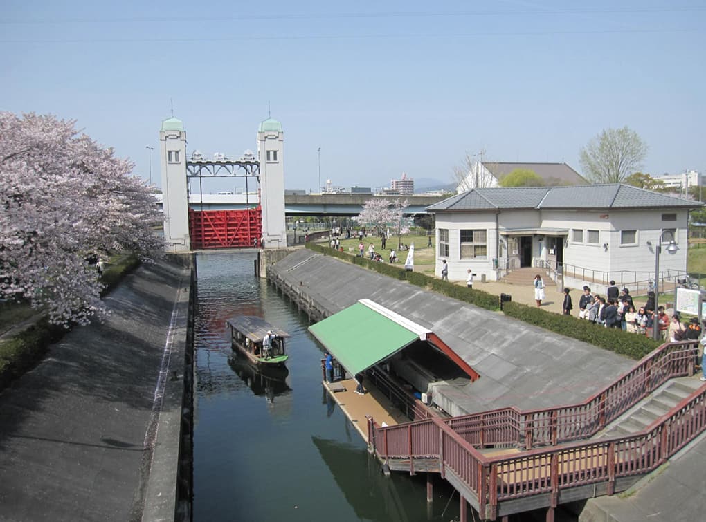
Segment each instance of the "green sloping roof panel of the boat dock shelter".
[{"label": "green sloping roof panel of the boat dock shelter", "polygon": [[311,325],[309,332],[352,375],[419,339],[419,332],[360,302]]}]

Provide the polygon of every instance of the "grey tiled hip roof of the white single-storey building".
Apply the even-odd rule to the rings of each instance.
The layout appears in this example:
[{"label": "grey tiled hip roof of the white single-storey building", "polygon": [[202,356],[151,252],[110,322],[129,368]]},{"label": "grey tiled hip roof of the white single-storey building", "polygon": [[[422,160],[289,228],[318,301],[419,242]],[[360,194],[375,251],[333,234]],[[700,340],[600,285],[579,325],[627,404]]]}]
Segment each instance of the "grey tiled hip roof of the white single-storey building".
[{"label": "grey tiled hip roof of the white single-storey building", "polygon": [[609,183],[558,187],[474,188],[426,210],[698,208],[702,203],[642,188]]}]

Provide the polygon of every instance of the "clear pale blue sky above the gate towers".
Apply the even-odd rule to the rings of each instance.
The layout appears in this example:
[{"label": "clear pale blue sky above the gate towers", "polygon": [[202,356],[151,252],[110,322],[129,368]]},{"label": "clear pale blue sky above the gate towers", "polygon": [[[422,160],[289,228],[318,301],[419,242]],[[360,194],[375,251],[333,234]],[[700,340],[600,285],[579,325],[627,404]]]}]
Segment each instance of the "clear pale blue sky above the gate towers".
[{"label": "clear pale blue sky above the gate towers", "polygon": [[[6,0],[0,110],[76,119],[148,176],[160,121],[189,152],[285,130],[287,188],[451,181],[465,152],[561,162],[603,128],[645,171],[706,170],[702,0]],[[159,179],[158,154],[152,177]]]}]

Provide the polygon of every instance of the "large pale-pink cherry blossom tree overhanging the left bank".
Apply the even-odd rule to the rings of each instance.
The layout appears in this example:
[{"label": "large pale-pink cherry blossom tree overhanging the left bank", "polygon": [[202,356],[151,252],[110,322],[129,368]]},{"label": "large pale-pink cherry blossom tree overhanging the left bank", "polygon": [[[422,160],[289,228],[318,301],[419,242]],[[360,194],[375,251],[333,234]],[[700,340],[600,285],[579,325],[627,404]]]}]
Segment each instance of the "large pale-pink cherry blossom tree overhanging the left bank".
[{"label": "large pale-pink cherry blossom tree overhanging the left bank", "polygon": [[68,326],[105,317],[97,257],[154,257],[163,241],[150,188],[74,121],[0,112],[0,296]]}]

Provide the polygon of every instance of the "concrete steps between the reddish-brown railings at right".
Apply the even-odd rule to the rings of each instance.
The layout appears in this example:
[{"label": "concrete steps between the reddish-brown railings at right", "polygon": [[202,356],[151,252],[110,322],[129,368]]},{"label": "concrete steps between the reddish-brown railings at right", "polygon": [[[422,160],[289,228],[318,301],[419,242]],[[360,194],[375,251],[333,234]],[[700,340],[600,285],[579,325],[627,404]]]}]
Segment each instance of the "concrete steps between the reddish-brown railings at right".
[{"label": "concrete steps between the reddish-brown railings at right", "polygon": [[594,438],[619,437],[642,431],[683,399],[693,394],[702,384],[698,375],[672,379],[623,413],[621,417],[614,420]]}]

